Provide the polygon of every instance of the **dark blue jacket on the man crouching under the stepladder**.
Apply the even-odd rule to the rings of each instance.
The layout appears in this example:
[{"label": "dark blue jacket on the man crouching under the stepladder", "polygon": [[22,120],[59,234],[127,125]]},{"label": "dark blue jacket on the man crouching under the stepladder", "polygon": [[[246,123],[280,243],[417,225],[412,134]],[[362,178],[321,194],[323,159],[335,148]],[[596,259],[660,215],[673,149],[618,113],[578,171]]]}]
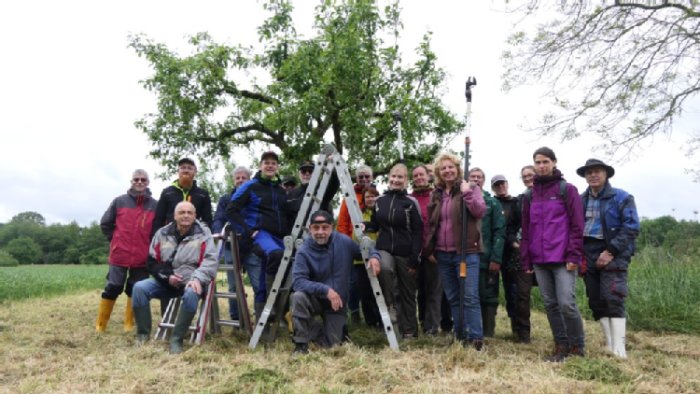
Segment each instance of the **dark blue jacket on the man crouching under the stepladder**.
[{"label": "dark blue jacket on the man crouching under the stepladder", "polygon": [[[377,251],[370,257],[381,261]],[[332,288],[347,306],[350,294],[350,270],[353,259],[361,259],[360,246],[345,234],[333,231],[328,244],[318,245],[311,237],[301,245],[294,258],[292,287],[294,291],[325,298]]]}]

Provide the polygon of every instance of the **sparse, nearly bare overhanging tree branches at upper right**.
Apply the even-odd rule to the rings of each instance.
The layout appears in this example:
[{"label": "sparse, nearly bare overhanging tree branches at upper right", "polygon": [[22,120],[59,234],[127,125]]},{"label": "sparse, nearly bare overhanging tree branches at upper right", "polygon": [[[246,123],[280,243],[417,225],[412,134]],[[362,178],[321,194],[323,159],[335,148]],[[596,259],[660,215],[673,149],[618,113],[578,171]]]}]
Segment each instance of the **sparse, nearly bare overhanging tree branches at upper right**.
[{"label": "sparse, nearly bare overhanging tree branches at upper right", "polygon": [[[700,92],[697,1],[562,1],[534,34],[517,31],[504,54],[504,87],[545,82],[556,110],[538,128],[563,139],[592,132],[609,153],[670,133]],[[684,5],[685,4],[685,5]],[[692,152],[700,143],[693,137]]]}]

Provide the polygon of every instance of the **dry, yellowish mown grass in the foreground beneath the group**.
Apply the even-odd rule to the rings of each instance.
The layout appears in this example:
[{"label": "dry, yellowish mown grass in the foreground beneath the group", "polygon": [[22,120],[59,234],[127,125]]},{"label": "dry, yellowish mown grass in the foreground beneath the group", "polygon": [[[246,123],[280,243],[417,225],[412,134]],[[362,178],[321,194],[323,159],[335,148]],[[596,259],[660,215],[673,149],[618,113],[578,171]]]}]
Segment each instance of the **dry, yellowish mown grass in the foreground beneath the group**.
[{"label": "dry, yellowish mown grass in the foreground beneath the group", "polygon": [[551,348],[544,315],[534,313],[534,341],[522,345],[508,340],[500,310],[497,337],[481,353],[444,336],[397,353],[363,330],[355,345],[293,358],[286,339],[250,351],[227,330],[170,356],[164,342],[137,348],[121,331],[125,299],[104,335],[94,332],[98,291],[0,305],[0,392],[700,392],[697,336],[630,333],[630,358],[621,361],[602,352],[599,327],[587,321],[588,357],[550,364],[542,361]]}]

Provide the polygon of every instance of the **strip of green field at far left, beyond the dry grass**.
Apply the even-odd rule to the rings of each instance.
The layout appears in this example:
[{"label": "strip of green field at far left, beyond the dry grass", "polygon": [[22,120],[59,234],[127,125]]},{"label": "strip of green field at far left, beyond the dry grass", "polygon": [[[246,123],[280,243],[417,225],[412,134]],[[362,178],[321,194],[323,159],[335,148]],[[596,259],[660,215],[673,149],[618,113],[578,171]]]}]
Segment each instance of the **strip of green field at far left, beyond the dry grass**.
[{"label": "strip of green field at far left, beyond the dry grass", "polygon": [[106,265],[0,267],[0,303],[101,288],[106,274]]}]

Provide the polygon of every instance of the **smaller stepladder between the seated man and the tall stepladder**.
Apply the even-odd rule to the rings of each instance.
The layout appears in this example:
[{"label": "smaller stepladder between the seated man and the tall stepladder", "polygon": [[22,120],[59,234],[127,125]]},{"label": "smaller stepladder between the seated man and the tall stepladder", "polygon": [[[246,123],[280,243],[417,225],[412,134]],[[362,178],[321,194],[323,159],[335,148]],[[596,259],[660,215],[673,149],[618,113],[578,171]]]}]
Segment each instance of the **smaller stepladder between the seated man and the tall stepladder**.
[{"label": "smaller stepladder between the seated man and the tall stepladder", "polygon": [[[217,291],[214,289],[214,299],[212,300],[212,310],[211,310],[211,321],[209,322],[212,327],[212,331],[215,333],[221,333],[221,326],[233,327],[240,329],[248,334],[248,336],[253,334],[253,326],[250,320],[250,309],[248,308],[248,301],[245,292],[245,286],[243,284],[243,264],[241,262],[241,255],[238,249],[238,234],[232,231],[229,223],[226,223],[224,228],[219,234],[220,242],[224,244],[229,242],[231,245],[231,255],[233,260],[233,265],[221,264],[219,263],[219,272],[232,272],[233,280],[236,284],[236,292],[230,293],[228,291]],[[228,275],[227,279],[228,280]],[[226,300],[234,299],[238,305],[238,319],[222,319],[220,317],[219,303],[218,299],[224,298]]]}]

